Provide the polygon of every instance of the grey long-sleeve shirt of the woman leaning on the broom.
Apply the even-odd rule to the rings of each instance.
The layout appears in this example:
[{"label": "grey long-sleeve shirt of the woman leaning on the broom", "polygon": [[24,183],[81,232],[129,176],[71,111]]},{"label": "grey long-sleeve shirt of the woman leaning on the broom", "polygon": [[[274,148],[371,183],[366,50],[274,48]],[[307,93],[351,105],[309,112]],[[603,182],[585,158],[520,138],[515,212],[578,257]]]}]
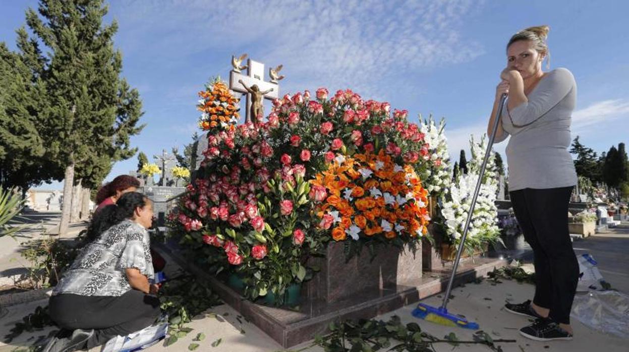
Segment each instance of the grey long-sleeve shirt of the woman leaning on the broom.
[{"label": "grey long-sleeve shirt of the woman leaning on the broom", "polygon": [[509,190],[548,189],[577,184],[574,162],[568,152],[570,124],[577,100],[577,84],[567,69],[542,77],[528,94],[528,102],[511,111],[503,109],[504,134],[511,135],[506,148]]}]

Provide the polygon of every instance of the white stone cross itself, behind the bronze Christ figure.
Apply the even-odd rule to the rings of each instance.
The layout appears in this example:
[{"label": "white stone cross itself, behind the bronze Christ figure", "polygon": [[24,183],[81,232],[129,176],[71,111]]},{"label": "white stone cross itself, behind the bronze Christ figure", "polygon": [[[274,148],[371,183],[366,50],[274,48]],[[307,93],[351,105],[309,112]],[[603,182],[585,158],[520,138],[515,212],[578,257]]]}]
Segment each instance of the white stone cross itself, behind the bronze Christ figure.
[{"label": "white stone cross itself, behind the bronze Christ figure", "polygon": [[[243,75],[240,72],[236,72],[235,70],[230,71],[230,89],[235,92],[239,92],[245,94],[247,96],[247,108],[245,109],[245,123],[250,122],[252,116],[249,116],[249,111],[251,109],[251,94],[245,90],[245,87],[238,82],[238,80],[242,80],[245,82],[247,87],[251,87],[254,84],[258,85],[260,91],[268,91],[269,89],[273,89],[272,91],[264,94],[264,99],[273,100],[279,97],[279,84],[274,82],[265,82],[264,80],[264,63],[253,61],[251,59],[247,60],[247,75]],[[242,109],[240,109],[242,111]]]}]

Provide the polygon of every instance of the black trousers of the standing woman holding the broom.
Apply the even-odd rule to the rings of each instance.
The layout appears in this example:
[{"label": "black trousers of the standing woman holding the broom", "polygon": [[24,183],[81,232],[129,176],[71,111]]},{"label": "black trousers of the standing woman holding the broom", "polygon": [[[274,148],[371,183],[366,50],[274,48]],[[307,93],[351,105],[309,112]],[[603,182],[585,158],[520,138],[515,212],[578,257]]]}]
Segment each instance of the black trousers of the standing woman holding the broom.
[{"label": "black trousers of the standing woman holding the broom", "polygon": [[550,309],[555,322],[570,324],[579,263],[568,231],[572,187],[509,192],[515,216],[535,256],[533,303]]}]

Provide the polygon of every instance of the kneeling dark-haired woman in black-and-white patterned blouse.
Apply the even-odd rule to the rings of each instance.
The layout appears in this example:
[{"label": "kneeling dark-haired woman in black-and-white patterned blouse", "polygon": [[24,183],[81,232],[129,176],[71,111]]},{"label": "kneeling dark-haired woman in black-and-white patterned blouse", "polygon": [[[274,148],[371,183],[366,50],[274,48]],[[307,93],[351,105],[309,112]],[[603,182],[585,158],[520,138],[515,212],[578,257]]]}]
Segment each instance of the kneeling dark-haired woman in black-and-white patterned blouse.
[{"label": "kneeling dark-haired woman in black-and-white patterned blouse", "polygon": [[99,346],[159,317],[154,295],[159,286],[148,282],[152,219],[150,200],[137,192],[123,194],[96,214],[87,229],[89,243],[50,297],[50,317],[64,330],[46,351]]}]

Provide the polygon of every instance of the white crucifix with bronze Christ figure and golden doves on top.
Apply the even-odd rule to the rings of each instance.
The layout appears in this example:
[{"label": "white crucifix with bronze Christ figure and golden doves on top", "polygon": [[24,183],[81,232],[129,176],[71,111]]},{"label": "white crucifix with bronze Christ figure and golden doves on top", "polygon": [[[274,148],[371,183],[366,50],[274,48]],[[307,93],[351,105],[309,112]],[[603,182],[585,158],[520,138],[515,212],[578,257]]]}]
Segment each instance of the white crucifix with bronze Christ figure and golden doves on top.
[{"label": "white crucifix with bronze Christ figure and golden doves on top", "polygon": [[[246,55],[246,54],[245,54]],[[240,60],[246,56],[242,55]],[[274,77],[270,82],[264,80],[264,63],[247,60],[247,66],[240,67],[240,61],[234,64],[232,58],[233,70],[230,71],[230,89],[247,95],[247,109],[245,111],[245,123],[253,121],[255,115],[262,114],[263,99],[273,100],[279,97],[278,80]],[[240,70],[247,69],[247,75],[241,73]],[[284,78],[284,77],[282,77]]]}]

